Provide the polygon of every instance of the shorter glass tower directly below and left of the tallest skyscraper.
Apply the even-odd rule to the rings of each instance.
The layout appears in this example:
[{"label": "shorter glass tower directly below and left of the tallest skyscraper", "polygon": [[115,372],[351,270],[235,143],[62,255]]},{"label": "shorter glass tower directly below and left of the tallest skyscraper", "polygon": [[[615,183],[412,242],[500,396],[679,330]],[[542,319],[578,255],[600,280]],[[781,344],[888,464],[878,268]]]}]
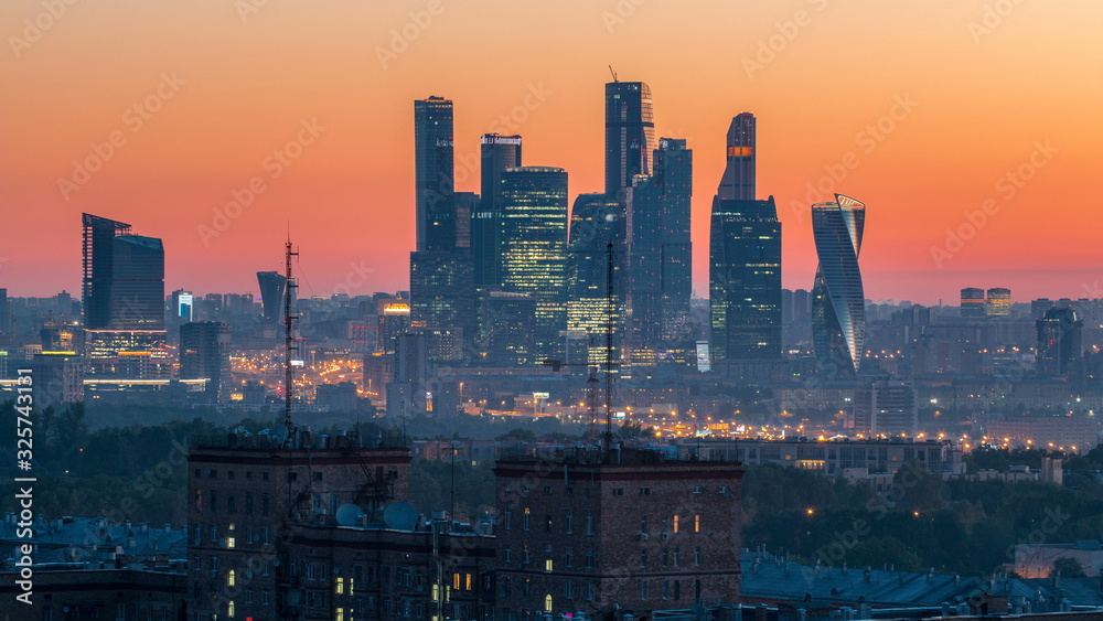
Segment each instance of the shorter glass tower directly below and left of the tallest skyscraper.
[{"label": "shorter glass tower directly below and left of the tallest skyscraper", "polygon": [[[612,358],[620,358],[624,320],[624,288],[620,278],[624,271],[624,220],[623,203],[607,194],[579,194],[570,210],[567,328],[587,335],[586,362],[589,364],[604,364],[607,330],[612,331]],[[612,266],[609,265],[610,249]]]}]

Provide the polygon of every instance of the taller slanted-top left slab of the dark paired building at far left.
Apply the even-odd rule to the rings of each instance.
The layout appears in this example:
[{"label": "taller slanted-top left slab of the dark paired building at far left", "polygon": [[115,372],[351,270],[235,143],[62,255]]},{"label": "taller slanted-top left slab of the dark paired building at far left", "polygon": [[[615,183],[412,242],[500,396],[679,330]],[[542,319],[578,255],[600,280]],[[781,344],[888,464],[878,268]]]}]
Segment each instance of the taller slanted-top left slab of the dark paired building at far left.
[{"label": "taller slanted-top left slab of the dark paired building at far left", "polygon": [[84,326],[99,330],[111,324],[111,277],[115,237],[130,233],[130,225],[92,214],[82,214],[82,263]]}]

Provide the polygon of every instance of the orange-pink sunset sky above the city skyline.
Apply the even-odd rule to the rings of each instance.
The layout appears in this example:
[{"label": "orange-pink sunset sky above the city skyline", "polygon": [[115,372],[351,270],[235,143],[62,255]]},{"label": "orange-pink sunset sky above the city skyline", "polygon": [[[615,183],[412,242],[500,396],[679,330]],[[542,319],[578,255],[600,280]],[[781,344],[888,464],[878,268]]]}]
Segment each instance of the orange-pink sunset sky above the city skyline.
[{"label": "orange-pink sunset sky above the city skyline", "polygon": [[[52,2],[65,6],[0,4],[10,296],[79,291],[84,211],[163,238],[167,290],[255,290],[257,270],[280,268],[289,222],[303,295],[405,289],[413,99],[454,100],[458,158],[483,132],[516,131],[525,163],[566,168],[571,195],[595,192],[607,64],[647,82],[656,133],[694,149],[699,293],[724,135],[743,110],[758,116],[758,188],[778,199],[786,287],[812,283],[808,199],[834,186],[868,205],[871,299],[1103,289],[1103,3],[1092,0],[99,0],[58,17]],[[135,109],[146,101],[158,108],[148,118]],[[312,119],[317,138],[300,132]],[[73,161],[95,164],[93,143],[113,136],[120,146],[74,183]],[[275,178],[266,158],[299,137],[311,143]],[[810,194],[828,169],[845,178]],[[1000,181],[1009,171],[1029,180]],[[255,176],[264,191],[204,239],[213,210]],[[478,191],[478,170],[458,189]],[[947,247],[946,229],[970,233],[965,213],[988,199],[975,235]]]}]

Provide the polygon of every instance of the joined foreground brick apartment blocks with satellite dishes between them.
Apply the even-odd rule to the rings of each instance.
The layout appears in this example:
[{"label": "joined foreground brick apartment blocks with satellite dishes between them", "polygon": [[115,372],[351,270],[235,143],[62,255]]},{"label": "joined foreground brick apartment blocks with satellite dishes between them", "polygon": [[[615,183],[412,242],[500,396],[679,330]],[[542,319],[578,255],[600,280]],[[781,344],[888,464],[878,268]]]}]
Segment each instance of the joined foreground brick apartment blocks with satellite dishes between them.
[{"label": "joined foreground brick apartment blocks with satellite dishes between them", "polygon": [[608,619],[739,601],[736,462],[654,449],[499,459],[497,514],[405,502],[409,451],[270,436],[189,456],[189,619]]}]

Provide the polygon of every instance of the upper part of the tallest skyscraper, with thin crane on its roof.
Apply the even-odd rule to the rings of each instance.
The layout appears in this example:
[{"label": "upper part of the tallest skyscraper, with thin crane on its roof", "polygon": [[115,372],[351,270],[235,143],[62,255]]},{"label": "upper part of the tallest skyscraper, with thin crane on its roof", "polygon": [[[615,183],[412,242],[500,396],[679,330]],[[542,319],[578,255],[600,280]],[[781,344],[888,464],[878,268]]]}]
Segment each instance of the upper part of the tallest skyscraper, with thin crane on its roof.
[{"label": "upper part of the tallest skyscraper, with thin crane on its roof", "polygon": [[642,82],[606,84],[606,194],[632,186],[638,174],[651,174],[655,118],[651,87]]}]

